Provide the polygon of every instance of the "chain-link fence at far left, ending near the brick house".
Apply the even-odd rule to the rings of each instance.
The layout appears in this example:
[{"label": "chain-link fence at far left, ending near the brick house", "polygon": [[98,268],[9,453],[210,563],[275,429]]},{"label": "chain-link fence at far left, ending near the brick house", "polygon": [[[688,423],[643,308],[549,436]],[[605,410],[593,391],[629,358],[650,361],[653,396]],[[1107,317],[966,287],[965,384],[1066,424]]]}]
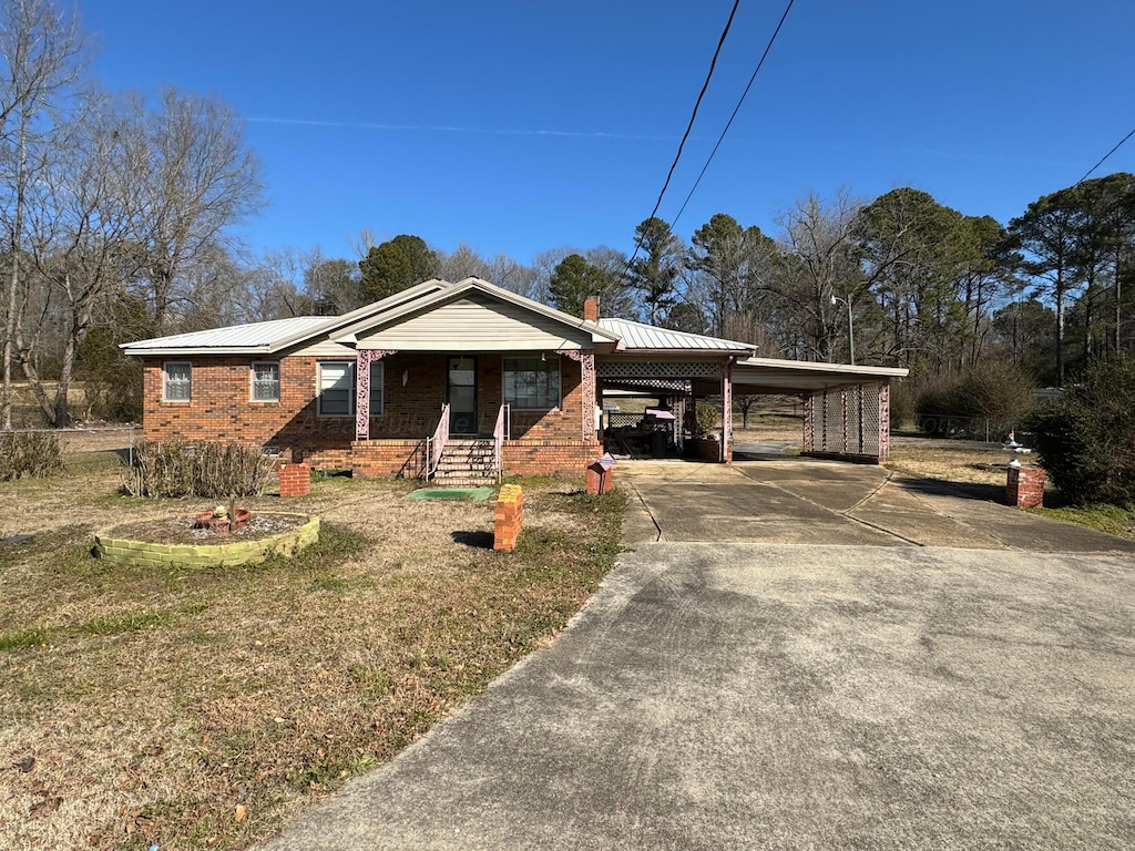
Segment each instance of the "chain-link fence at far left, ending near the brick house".
[{"label": "chain-link fence at far left, ending near the brick house", "polygon": [[0,430],[0,479],[133,466],[141,431],[137,426]]}]

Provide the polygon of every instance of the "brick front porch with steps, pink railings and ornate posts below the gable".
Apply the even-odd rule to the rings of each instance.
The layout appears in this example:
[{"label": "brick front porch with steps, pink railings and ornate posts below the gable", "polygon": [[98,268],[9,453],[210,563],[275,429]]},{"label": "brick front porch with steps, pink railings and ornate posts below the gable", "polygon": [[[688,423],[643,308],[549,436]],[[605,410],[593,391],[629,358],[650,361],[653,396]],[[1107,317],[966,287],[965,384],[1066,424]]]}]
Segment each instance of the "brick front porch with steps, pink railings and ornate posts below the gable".
[{"label": "brick front porch with steps, pink railings and ornate posts below the gable", "polygon": [[359,477],[579,475],[602,454],[590,351],[359,349],[355,372]]}]

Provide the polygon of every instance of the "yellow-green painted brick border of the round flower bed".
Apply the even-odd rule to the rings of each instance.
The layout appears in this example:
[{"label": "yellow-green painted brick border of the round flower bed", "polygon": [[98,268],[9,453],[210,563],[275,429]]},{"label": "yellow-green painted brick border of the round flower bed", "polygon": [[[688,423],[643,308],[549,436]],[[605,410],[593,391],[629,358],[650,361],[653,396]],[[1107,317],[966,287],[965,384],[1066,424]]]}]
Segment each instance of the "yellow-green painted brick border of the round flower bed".
[{"label": "yellow-green painted brick border of the round flower bed", "polygon": [[[285,516],[306,516],[288,512],[258,512]],[[135,567],[224,567],[259,564],[274,555],[292,556],[319,538],[319,517],[310,517],[299,529],[228,544],[151,544],[131,538],[116,538],[118,526],[94,533],[94,556],[110,564]]]}]

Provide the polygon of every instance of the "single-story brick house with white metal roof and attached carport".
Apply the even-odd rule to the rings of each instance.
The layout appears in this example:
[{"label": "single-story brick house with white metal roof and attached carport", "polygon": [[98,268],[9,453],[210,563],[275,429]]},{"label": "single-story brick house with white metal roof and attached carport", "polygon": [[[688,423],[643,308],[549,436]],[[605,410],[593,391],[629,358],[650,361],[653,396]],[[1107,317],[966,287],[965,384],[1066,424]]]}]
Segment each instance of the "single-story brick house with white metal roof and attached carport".
[{"label": "single-story brick house with white metal roof and attached carport", "polygon": [[[723,396],[725,411],[735,386],[798,393],[813,421],[808,399],[839,388],[844,419],[847,388],[860,388],[852,395],[863,419],[861,388],[871,386],[867,407],[885,420],[888,382],[906,374],[756,359],[746,343],[600,319],[597,301],[585,312],[573,317],[478,278],[430,280],[339,317],[123,348],[144,362],[145,439],[236,441],[361,477],[434,478],[444,458],[459,455],[484,473],[578,474],[603,453],[604,386],[657,391],[659,399]],[[868,429],[874,440],[827,446],[829,407],[819,407],[823,445],[806,448],[885,457],[878,423]],[[713,460],[730,461],[731,433],[726,416]]]}]

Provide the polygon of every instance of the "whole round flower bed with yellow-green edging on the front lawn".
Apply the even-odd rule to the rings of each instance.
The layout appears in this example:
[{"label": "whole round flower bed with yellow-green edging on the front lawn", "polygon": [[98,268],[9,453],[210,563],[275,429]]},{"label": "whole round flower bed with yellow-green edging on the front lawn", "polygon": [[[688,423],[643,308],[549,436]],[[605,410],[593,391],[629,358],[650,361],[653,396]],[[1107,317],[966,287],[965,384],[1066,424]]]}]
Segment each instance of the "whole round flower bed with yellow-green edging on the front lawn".
[{"label": "whole round flower bed with yellow-green edging on the front lawn", "polygon": [[197,515],[151,517],[120,523],[94,536],[94,555],[111,564],[219,567],[291,556],[319,538],[319,517],[257,512],[228,532]]}]

